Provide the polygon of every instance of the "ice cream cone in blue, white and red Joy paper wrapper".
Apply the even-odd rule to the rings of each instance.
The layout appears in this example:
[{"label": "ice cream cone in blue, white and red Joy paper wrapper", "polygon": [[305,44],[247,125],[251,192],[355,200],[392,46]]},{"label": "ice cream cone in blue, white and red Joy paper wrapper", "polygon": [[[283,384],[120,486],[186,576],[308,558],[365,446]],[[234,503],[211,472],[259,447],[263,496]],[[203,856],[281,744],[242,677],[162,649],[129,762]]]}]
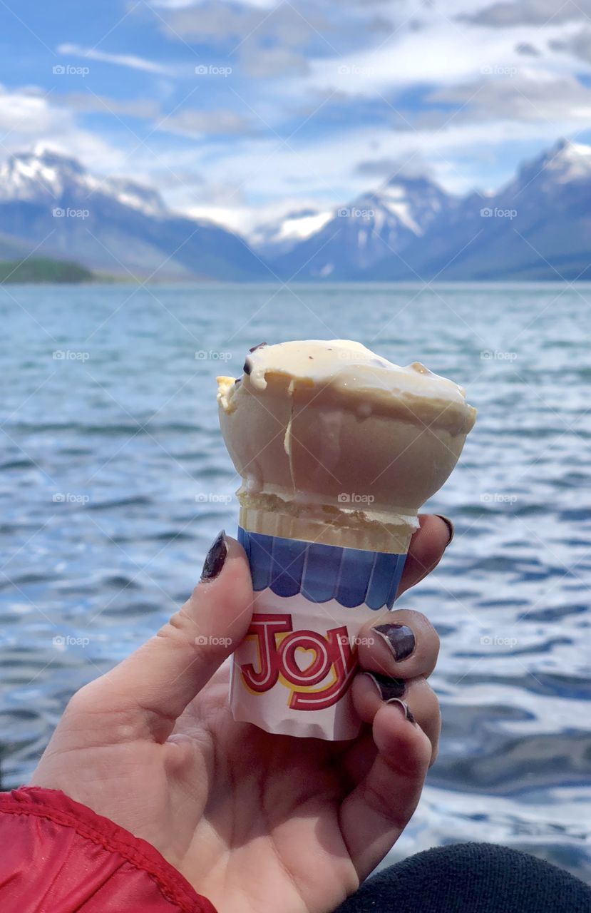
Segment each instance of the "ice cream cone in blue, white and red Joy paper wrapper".
[{"label": "ice cream cone in blue, white and red Joy paper wrapper", "polygon": [[[475,410],[461,387],[420,362],[400,368],[340,340],[256,347],[241,379],[218,378],[218,402],[223,438],[243,479],[241,540],[260,628],[235,655],[234,715],[271,731],[351,738],[358,729],[347,704],[355,635],[372,613],[391,607],[420,506],[456,465]],[[274,586],[277,580],[283,584]],[[270,637],[259,616],[282,613],[291,627],[257,641],[263,629]],[[331,641],[337,636],[348,638],[345,658]],[[316,651],[301,676],[289,645]],[[258,692],[244,668],[260,664],[264,649],[275,650],[279,671]],[[325,654],[334,661],[316,681]],[[291,672],[279,668],[288,655]],[[311,712],[316,698],[309,698],[305,708],[303,694],[330,692],[339,675],[343,689],[332,704]]]}]

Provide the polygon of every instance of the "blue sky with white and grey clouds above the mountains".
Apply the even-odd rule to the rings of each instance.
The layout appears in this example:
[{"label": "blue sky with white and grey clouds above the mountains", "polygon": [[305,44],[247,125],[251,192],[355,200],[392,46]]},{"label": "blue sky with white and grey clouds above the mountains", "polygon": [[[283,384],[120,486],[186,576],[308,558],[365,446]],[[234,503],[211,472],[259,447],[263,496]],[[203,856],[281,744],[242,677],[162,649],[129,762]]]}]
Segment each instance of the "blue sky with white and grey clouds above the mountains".
[{"label": "blue sky with white and grey clouds above the mountains", "polygon": [[249,234],[591,141],[591,0],[0,0],[0,159],[42,143]]}]

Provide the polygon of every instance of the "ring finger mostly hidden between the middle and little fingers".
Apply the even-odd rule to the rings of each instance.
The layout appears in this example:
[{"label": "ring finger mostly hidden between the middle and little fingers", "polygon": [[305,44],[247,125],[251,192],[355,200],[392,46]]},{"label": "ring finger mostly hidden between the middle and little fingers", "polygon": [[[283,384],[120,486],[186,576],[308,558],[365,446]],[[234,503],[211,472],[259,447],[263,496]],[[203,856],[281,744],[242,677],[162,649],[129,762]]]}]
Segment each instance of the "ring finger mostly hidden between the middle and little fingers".
[{"label": "ring finger mostly hidden between the middle and little fingers", "polygon": [[371,723],[378,709],[388,701],[402,701],[420,729],[430,740],[430,764],[437,757],[441,712],[437,695],[424,678],[405,682],[400,678],[360,673],[353,682],[353,704],[364,723]]}]

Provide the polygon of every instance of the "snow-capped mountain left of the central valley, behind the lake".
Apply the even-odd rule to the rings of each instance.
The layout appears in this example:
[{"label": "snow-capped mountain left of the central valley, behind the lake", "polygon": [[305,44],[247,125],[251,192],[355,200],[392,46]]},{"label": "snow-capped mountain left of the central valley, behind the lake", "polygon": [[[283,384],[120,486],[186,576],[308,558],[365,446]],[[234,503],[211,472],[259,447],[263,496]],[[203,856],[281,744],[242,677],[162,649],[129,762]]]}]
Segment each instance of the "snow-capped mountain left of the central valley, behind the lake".
[{"label": "snow-capped mountain left of the central valley, behind the lake", "polygon": [[4,247],[126,278],[270,278],[239,236],[172,213],[150,188],[99,178],[43,148],[0,165],[0,238]]}]

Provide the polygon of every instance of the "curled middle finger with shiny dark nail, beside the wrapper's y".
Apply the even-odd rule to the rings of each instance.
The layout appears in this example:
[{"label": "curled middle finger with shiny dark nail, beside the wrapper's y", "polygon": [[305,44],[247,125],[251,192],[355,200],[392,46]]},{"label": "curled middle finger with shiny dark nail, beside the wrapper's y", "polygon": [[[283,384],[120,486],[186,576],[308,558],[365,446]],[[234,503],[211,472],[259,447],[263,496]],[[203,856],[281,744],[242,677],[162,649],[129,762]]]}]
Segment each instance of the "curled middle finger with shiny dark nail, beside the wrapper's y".
[{"label": "curled middle finger with shiny dark nail, beside the wrapper's y", "polygon": [[429,619],[413,609],[394,609],[366,624],[358,635],[359,665],[393,678],[428,677],[440,639]]}]

